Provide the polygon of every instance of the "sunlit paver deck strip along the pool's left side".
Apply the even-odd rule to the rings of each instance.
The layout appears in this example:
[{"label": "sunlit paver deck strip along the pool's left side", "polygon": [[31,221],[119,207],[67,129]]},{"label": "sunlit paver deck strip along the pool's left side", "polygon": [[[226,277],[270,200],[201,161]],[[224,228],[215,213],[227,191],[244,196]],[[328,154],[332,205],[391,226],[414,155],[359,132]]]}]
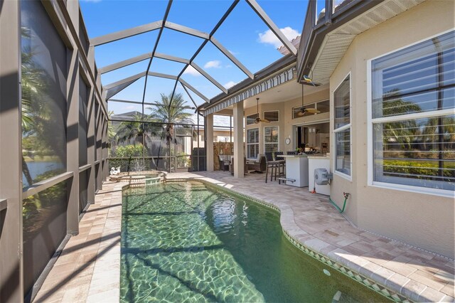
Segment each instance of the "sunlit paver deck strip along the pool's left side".
[{"label": "sunlit paver deck strip along the pool's left side", "polygon": [[103,184],[34,302],[119,302],[123,186]]}]

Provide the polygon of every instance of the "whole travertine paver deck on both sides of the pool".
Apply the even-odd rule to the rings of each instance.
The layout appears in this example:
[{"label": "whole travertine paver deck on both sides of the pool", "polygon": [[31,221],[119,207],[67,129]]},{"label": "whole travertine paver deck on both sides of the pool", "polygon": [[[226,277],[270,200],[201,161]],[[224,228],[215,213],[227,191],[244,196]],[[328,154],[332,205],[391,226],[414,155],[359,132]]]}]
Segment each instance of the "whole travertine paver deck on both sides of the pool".
[{"label": "whole travertine paver deck on both sides of the pool", "polygon": [[[307,188],[264,183],[261,174],[235,179],[228,172],[168,174],[230,188],[278,206],[289,234],[352,270],[414,301],[454,301],[454,260],[353,227]],[[36,297],[37,302],[117,302],[124,184],[105,183]]]}]

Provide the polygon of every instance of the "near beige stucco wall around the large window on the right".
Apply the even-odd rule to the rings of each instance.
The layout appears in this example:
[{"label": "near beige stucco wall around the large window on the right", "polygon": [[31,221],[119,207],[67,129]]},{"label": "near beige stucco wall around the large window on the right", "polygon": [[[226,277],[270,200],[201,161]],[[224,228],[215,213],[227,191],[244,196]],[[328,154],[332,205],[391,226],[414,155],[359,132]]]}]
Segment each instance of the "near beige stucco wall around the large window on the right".
[{"label": "near beige stucco wall around the large window on the right", "polygon": [[[352,181],[334,176],[332,198],[341,203],[343,191],[351,193],[346,215],[359,228],[448,257],[454,257],[453,198],[368,186],[367,63],[454,28],[454,9],[454,1],[428,0],[365,31],[355,38],[330,79],[331,97],[348,73],[352,86]],[[333,151],[333,139],[331,145]]]}]

